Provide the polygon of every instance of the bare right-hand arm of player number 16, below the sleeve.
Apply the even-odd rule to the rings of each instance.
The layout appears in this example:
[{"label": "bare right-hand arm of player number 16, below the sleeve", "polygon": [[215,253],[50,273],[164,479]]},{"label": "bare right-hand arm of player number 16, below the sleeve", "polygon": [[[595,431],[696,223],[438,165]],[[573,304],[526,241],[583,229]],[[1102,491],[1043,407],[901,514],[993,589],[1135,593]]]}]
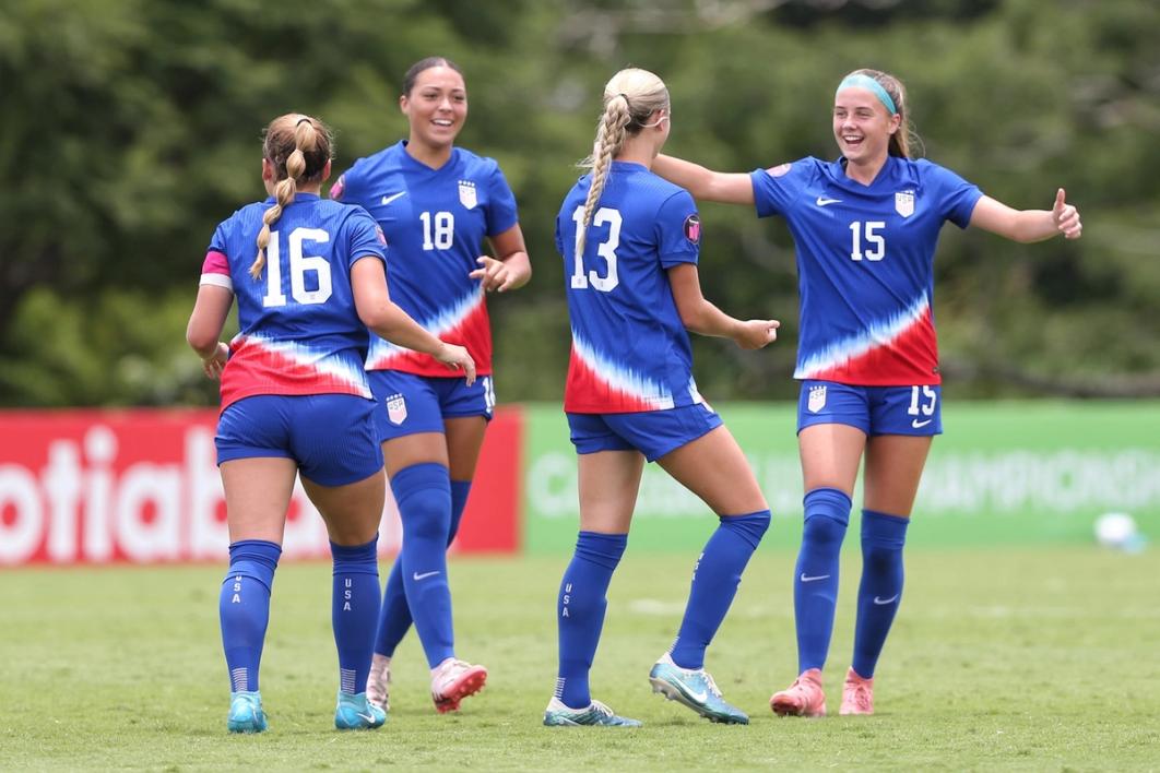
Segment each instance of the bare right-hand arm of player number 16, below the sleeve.
[{"label": "bare right-hand arm of player number 16, below the sleeve", "polygon": [[476,380],[476,362],[463,347],[440,341],[399,308],[386,290],[386,271],[377,256],[360,260],[350,268],[358,319],[376,335],[399,347],[430,355],[451,370],[463,369],[467,384]]}]

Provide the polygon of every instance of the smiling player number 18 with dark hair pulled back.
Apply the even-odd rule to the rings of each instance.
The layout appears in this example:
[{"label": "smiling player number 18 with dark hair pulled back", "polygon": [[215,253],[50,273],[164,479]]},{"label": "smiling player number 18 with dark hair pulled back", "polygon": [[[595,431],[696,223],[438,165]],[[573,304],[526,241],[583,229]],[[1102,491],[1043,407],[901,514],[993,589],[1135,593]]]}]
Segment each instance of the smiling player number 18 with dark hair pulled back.
[{"label": "smiling player number 18 with dark hair pulled back", "polygon": [[[483,688],[487,669],[456,657],[447,548],[455,539],[495,406],[485,294],[528,283],[515,197],[499,165],[455,146],[467,117],[459,68],[429,57],[407,71],[399,107],[409,136],[360,159],[331,197],[361,204],[391,245],[391,292],[408,314],[467,348],[465,385],[428,355],[372,337],[367,357],[403,549],[383,597],[368,694],[389,709],[391,657],[414,620],[440,713]],[[481,255],[491,243],[494,257]]]}]

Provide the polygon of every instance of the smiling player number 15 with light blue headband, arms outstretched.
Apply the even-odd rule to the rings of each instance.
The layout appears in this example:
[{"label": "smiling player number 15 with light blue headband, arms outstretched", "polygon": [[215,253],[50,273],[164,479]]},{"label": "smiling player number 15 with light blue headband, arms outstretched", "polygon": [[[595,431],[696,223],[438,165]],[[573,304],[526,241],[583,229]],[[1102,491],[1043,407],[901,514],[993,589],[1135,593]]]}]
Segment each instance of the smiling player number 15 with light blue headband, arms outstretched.
[{"label": "smiling player number 15 with light blue headband, arms outstretched", "polygon": [[799,676],[770,699],[778,715],[826,713],[839,550],[864,458],[862,582],[841,714],[873,713],[873,673],[902,599],[902,545],[931,439],[942,432],[933,262],[950,220],[1020,242],[1078,239],[1059,189],[1050,210],[1014,210],[911,158],[902,83],[857,70],[838,86],[836,161],[805,158],[723,174],[661,156],[659,175],[713,202],[781,214],[797,246],[802,297],[795,377],[805,524],[793,570]]}]

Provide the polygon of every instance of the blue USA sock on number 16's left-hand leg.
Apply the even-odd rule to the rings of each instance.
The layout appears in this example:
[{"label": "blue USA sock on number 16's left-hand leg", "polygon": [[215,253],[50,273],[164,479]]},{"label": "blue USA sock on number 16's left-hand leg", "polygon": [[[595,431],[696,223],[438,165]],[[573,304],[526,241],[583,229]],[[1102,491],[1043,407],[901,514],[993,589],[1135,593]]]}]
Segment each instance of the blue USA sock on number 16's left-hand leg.
[{"label": "blue USA sock on number 16's left-hand leg", "polygon": [[232,692],[258,691],[258,668],[270,620],[270,589],[281,555],[282,548],[266,540],[230,545],[230,570],[222,583],[218,617]]}]

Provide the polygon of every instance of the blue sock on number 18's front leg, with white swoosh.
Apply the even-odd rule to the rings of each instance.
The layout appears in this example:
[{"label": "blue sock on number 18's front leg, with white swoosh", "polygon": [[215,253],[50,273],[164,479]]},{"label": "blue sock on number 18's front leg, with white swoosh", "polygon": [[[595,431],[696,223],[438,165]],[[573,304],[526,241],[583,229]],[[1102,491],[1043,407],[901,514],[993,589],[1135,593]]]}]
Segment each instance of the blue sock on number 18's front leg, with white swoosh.
[{"label": "blue sock on number 18's front leg, with white swoosh", "polygon": [[451,588],[447,581],[447,535],[451,523],[451,486],[447,467],[411,465],[391,477],[391,491],[403,520],[399,570],[407,608],[435,668],[455,657]]}]

